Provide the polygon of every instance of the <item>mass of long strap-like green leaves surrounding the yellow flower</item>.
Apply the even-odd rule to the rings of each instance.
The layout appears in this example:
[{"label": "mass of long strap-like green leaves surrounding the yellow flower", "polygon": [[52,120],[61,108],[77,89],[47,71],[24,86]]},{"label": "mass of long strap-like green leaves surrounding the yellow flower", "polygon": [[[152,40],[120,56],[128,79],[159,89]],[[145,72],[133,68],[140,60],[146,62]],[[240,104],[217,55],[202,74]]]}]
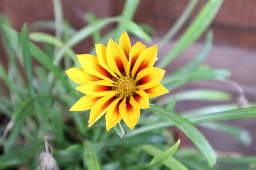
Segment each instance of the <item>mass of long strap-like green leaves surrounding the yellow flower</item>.
[{"label": "mass of long strap-like green leaves surrounding the yellow flower", "polygon": [[[180,30],[197,3],[198,0],[191,0],[177,23],[160,40],[160,47]],[[124,30],[150,41],[143,28],[153,31],[132,20],[139,0],[127,0],[122,13],[115,17],[98,19],[88,13],[85,17],[89,24],[80,30],[64,22],[60,0],[53,0],[53,4],[54,21],[38,21],[29,26],[24,24],[20,33],[11,28],[5,15],[0,15],[2,44],[8,58],[7,67],[0,62],[0,79],[4,84],[1,88],[6,88],[8,92],[0,96],[0,114],[6,120],[0,125],[0,149],[3,150],[0,169],[18,169],[24,165],[29,170],[36,169],[39,166],[38,157],[45,151],[45,135],[54,137],[48,141],[52,148],[50,154],[62,170],[224,170],[230,164],[236,165],[233,170],[252,169],[249,167],[256,164],[255,155],[216,157],[211,144],[195,124],[233,135],[248,146],[252,137],[247,130],[215,121],[256,117],[256,107],[238,109],[236,104],[225,104],[188,110],[182,114],[173,111],[175,104],[181,100],[227,102],[231,96],[223,91],[194,89],[152,100],[153,104],[143,110],[134,130],[123,127],[123,139],[114,130],[123,133],[121,126],[106,132],[102,119],[88,128],[88,111],[69,112],[80,97],[80,93],[74,90],[76,85],[64,73],[72,66],[79,67],[72,47],[91,36],[95,43],[106,44],[111,37],[117,40]],[[159,66],[167,66],[195,42],[211,24],[221,4],[222,0],[207,1]],[[101,35],[101,29],[112,23],[117,26],[106,35]],[[55,35],[31,31],[34,29],[54,30]],[[202,66],[212,41],[213,32],[210,30],[198,55],[179,70],[166,73],[162,84],[173,91],[195,80],[228,78],[230,71]],[[95,50],[92,49],[91,53]],[[38,64],[35,64],[36,61]],[[176,142],[171,127],[182,130],[200,152],[178,148],[183,139]]]}]

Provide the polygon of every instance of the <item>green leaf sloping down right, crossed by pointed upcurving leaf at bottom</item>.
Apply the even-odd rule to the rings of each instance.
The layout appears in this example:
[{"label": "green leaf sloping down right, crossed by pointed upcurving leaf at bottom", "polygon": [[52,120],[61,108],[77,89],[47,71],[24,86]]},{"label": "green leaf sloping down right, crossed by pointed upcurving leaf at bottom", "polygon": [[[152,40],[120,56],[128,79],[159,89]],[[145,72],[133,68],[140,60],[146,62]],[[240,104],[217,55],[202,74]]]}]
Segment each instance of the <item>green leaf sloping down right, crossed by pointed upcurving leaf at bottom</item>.
[{"label": "green leaf sloping down right, crossed by pointed upcurving leaf at bottom", "polygon": [[[142,150],[149,153],[150,155],[157,157],[158,155],[163,154],[162,150],[159,150],[153,145],[144,145],[141,146]],[[163,162],[165,166],[170,168],[171,170],[188,170],[182,163],[177,161],[174,157],[167,157],[166,160]]]}]

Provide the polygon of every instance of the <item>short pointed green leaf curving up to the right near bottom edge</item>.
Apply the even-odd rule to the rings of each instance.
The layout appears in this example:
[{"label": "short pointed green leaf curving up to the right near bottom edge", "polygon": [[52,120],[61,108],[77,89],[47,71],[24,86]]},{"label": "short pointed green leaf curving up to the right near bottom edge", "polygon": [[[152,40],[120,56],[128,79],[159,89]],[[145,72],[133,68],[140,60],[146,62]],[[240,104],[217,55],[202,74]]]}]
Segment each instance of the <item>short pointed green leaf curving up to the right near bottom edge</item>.
[{"label": "short pointed green leaf curving up to the right near bottom edge", "polygon": [[179,146],[180,146],[180,139],[171,148],[169,148],[168,150],[164,151],[163,153],[155,156],[150,163],[151,166],[152,165],[161,165],[163,161],[165,161],[168,157],[171,157],[171,155],[173,155],[174,152],[176,152],[176,150],[178,149]]}]

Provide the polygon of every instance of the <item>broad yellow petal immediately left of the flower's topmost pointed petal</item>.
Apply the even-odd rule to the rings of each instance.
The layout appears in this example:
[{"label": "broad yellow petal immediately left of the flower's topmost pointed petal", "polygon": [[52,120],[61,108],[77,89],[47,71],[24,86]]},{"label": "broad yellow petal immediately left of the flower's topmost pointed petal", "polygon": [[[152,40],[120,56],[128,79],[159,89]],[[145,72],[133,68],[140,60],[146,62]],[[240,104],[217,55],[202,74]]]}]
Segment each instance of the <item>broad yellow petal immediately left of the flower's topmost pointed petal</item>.
[{"label": "broad yellow petal immediately left of the flower's topmost pointed petal", "polygon": [[128,63],[126,55],[112,39],[109,40],[107,45],[107,62],[111,70],[120,77],[126,73]]}]

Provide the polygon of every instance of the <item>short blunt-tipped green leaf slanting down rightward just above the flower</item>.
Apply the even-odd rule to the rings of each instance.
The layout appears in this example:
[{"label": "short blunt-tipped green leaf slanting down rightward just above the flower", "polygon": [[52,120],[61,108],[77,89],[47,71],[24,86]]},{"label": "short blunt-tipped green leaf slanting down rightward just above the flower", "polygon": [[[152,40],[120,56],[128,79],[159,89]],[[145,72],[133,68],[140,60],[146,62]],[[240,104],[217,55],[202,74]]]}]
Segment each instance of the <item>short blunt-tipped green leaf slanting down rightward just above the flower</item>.
[{"label": "short blunt-tipped green leaf slanting down rightward just above the flower", "polygon": [[151,41],[150,36],[143,29],[141,29],[139,25],[137,25],[135,22],[125,17],[122,17],[120,20],[121,24],[127,31],[133,33],[138,38],[141,38],[147,42]]}]

